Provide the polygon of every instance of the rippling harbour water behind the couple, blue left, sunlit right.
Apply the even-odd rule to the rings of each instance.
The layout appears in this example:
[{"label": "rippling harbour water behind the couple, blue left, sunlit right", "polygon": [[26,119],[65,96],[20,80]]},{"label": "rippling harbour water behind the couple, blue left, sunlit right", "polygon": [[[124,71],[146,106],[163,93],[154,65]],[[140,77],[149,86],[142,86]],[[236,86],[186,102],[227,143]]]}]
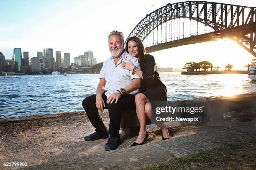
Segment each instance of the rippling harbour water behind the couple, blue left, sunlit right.
[{"label": "rippling harbour water behind the couple, blue left, sunlit right", "polygon": [[[246,74],[181,75],[161,72],[168,100],[256,91]],[[95,94],[99,74],[0,76],[0,118],[83,110],[82,100]]]}]

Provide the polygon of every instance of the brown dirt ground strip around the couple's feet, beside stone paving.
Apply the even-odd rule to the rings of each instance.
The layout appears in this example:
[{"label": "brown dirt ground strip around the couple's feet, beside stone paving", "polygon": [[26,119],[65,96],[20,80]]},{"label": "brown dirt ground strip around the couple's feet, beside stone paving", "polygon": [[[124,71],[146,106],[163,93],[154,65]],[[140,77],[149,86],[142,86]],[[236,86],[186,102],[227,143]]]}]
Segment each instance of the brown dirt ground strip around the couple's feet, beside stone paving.
[{"label": "brown dirt ground strip around the couple's feet, beside stone paving", "polygon": [[[85,135],[95,132],[85,112],[72,112],[72,116],[69,113],[46,119],[1,122],[0,169],[17,169],[17,167],[3,167],[3,163],[6,162],[26,162],[31,166],[77,155],[89,155],[92,152],[105,152],[107,139],[92,142],[84,140]],[[104,111],[101,116],[108,127],[108,112]],[[198,128],[199,126],[195,124],[179,124],[169,126],[168,130],[171,138],[176,138],[192,135]],[[147,143],[161,140],[160,128],[150,125],[147,129],[149,132]],[[136,137],[127,138],[121,130],[120,134],[122,144],[118,149],[129,147],[136,140]]]}]

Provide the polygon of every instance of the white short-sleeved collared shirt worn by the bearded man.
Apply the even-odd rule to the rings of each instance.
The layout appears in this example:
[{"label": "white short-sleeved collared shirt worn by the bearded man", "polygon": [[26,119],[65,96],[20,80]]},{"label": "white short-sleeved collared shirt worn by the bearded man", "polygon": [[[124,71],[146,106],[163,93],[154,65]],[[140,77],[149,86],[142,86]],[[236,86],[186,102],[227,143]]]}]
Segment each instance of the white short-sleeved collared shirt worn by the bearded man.
[{"label": "white short-sleeved collared shirt worn by the bearded man", "polygon": [[[113,57],[110,57],[108,60],[103,62],[103,66],[100,70],[100,78],[105,78],[105,80],[108,82],[108,91],[105,92],[107,97],[109,97],[117,90],[120,90],[120,88],[124,88],[131,84],[133,82],[133,78],[140,78],[136,74],[132,75],[131,70],[126,70],[120,67],[121,62],[129,62],[129,60],[131,60],[131,62],[133,62],[133,64],[139,69],[141,69],[138,58],[131,56],[126,51],[123,53],[123,55],[120,56],[120,60],[116,65]],[[130,92],[131,95],[136,95],[137,93],[138,89]]]}]

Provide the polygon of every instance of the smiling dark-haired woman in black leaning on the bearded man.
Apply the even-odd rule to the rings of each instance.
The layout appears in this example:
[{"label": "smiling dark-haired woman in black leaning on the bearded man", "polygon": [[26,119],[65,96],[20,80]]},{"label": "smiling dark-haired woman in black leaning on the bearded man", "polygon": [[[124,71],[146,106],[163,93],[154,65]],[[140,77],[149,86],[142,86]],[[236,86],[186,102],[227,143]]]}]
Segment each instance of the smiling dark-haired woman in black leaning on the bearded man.
[{"label": "smiling dark-haired woman in black leaning on the bearded man", "polygon": [[[140,93],[135,96],[136,112],[140,122],[140,132],[138,138],[131,146],[143,145],[148,138],[146,131],[146,116],[151,120],[151,101],[167,101],[166,86],[161,81],[158,72],[156,72],[156,63],[152,55],[146,54],[145,47],[138,37],[128,38],[125,50],[137,57],[141,64],[141,70],[130,62],[122,62],[121,68],[131,70],[132,74],[141,77]],[[169,133],[163,123],[159,125],[162,130],[162,139],[169,139]]]}]

